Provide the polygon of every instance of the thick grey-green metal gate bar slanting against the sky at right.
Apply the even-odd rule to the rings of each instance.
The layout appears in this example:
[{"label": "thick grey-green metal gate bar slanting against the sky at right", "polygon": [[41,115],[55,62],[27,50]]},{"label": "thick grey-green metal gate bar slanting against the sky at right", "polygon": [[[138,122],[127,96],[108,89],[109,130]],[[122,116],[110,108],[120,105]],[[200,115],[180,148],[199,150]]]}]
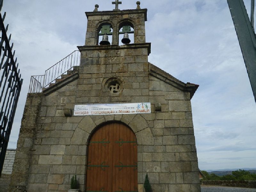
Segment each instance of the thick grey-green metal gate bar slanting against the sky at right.
[{"label": "thick grey-green metal gate bar slanting against the sky at right", "polygon": [[256,38],[252,28],[253,17],[251,23],[243,0],[227,1],[256,102]]}]

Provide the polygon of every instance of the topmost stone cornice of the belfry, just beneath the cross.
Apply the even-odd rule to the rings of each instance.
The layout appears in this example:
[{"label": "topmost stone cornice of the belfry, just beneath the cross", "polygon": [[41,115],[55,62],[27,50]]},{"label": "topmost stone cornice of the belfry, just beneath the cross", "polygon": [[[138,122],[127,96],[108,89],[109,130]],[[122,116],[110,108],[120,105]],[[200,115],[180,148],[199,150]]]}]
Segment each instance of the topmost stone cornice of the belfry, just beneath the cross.
[{"label": "topmost stone cornice of the belfry, just beneath the cross", "polygon": [[147,21],[147,12],[148,12],[148,9],[128,9],[128,10],[120,10],[120,11],[85,12],[85,15],[88,19],[89,16],[144,14],[145,21]]}]

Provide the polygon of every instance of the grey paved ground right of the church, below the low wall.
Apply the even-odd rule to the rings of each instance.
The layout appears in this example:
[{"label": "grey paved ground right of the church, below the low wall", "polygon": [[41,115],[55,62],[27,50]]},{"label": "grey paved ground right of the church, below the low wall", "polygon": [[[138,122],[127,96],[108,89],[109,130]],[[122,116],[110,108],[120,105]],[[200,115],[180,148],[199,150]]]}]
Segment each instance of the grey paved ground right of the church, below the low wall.
[{"label": "grey paved ground right of the church, below the low wall", "polygon": [[219,187],[219,186],[201,186],[201,192],[256,192],[256,189],[237,188],[237,187]]}]

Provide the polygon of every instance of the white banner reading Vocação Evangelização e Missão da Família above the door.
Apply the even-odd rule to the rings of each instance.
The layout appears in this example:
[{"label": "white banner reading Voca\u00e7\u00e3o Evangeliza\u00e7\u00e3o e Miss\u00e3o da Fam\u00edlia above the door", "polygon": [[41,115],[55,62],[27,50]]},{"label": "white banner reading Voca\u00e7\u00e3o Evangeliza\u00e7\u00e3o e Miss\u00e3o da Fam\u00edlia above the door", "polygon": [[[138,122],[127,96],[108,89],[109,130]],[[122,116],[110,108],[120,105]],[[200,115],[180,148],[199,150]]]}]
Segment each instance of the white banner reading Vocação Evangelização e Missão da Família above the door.
[{"label": "white banner reading Voca\u00e7\u00e3o Evangeliza\u00e7\u00e3o e Miss\u00e3o da Fam\u00edlia above the door", "polygon": [[74,116],[151,113],[150,103],[75,105]]}]

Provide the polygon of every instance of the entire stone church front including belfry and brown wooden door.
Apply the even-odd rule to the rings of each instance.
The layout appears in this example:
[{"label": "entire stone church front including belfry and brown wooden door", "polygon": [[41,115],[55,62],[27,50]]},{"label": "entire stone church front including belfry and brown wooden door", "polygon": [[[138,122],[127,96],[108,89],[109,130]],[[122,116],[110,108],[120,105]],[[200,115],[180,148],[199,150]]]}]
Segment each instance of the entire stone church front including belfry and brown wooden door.
[{"label": "entire stone church front including belfry and brown wooden door", "polygon": [[[67,192],[76,174],[80,191],[143,192],[148,174],[153,192],[199,192],[190,102],[198,85],[148,62],[147,9],[86,16],[80,65],[27,96],[10,191]],[[106,24],[112,45],[98,45]],[[134,43],[118,45],[127,25]],[[74,115],[75,105],[146,102],[151,113]]]}]

